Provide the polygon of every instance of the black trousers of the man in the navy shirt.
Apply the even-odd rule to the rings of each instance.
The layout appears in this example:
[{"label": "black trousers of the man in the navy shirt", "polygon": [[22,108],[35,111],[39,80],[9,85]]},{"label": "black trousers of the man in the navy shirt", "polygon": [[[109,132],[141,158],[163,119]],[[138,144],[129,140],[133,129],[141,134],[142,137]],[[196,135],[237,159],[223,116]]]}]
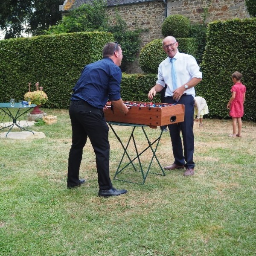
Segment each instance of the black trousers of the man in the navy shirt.
[{"label": "black trousers of the man in the navy shirt", "polygon": [[109,127],[102,110],[94,108],[87,102],[72,101],[69,108],[72,126],[72,146],[68,159],[67,183],[79,183],[79,169],[83,148],[89,137],[96,155],[96,167],[100,189],[111,189],[109,177]]}]

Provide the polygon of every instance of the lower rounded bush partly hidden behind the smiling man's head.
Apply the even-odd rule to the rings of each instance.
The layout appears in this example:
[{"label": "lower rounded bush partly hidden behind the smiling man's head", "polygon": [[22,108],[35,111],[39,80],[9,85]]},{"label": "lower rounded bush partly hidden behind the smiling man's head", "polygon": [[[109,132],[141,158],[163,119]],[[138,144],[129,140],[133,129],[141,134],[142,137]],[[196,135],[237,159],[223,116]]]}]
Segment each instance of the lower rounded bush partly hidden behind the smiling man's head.
[{"label": "lower rounded bush partly hidden behind the smiling man's head", "polygon": [[[197,42],[195,38],[176,38],[179,43],[179,52],[197,55]],[[145,73],[157,73],[159,64],[167,58],[163,50],[163,39],[155,39],[146,44],[140,52],[139,64]]]}]

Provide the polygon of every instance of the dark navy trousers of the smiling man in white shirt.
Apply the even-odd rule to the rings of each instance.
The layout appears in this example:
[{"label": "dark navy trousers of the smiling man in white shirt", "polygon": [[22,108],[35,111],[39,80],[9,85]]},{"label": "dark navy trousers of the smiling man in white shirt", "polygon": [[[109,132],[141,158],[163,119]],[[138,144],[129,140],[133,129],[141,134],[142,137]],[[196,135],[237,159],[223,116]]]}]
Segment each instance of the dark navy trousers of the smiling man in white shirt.
[{"label": "dark navy trousers of the smiling man in white shirt", "polygon": [[[170,136],[172,140],[172,152],[175,158],[174,163],[177,165],[184,165],[186,168],[194,168],[194,98],[191,95],[183,95],[180,100],[176,102],[172,97],[166,97],[165,103],[176,103],[185,105],[184,122],[173,125],[168,125]],[[183,137],[183,147],[180,137],[180,130]]]}]

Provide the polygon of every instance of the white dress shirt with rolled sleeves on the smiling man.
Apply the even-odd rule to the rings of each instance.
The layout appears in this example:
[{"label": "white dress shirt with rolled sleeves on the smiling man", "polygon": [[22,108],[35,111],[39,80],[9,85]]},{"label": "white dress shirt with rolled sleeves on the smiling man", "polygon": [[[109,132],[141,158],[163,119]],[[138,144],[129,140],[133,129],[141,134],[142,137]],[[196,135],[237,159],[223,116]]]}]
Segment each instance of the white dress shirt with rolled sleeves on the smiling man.
[{"label": "white dress shirt with rolled sleeves on the smiling man", "polygon": [[[173,58],[175,61],[175,70],[177,78],[177,87],[180,87],[190,81],[192,78],[202,79],[202,73],[195,58],[192,55],[177,52]],[[167,84],[165,97],[173,95],[172,88],[172,63],[170,57],[163,60],[158,67],[157,84],[163,87]],[[189,88],[185,90],[186,94],[190,94],[195,97],[195,88]]]}]

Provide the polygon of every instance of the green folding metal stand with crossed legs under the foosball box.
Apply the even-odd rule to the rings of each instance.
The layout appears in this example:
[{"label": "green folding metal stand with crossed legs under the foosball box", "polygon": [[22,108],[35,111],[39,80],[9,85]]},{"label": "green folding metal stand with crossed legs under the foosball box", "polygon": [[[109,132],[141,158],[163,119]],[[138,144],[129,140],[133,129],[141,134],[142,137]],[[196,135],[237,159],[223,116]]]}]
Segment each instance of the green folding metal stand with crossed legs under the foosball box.
[{"label": "green folding metal stand with crossed legs under the foosball box", "polygon": [[[163,171],[162,166],[160,165],[159,160],[157,159],[157,156],[156,156],[157,147],[158,147],[158,145],[159,145],[159,142],[160,142],[160,139],[161,139],[161,137],[162,137],[163,131],[160,132],[160,135],[159,135],[159,137],[158,137],[156,140],[154,140],[153,142],[151,142],[151,141],[149,140],[149,138],[148,138],[148,135],[146,134],[146,131],[145,131],[145,127],[148,127],[148,125],[139,125],[139,124],[130,124],[130,123],[121,123],[121,122],[110,122],[110,121],[107,121],[107,123],[108,123],[108,125],[110,126],[111,130],[113,131],[113,133],[115,134],[117,140],[119,140],[119,142],[120,142],[120,144],[122,145],[122,148],[123,148],[123,150],[124,150],[124,153],[122,154],[120,163],[119,163],[119,165],[118,165],[118,167],[117,167],[116,173],[115,173],[115,175],[114,175],[114,180],[121,180],[121,181],[129,182],[129,183],[137,183],[137,182],[132,182],[132,181],[128,181],[128,180],[122,180],[122,179],[118,179],[118,178],[117,178],[117,175],[120,174],[124,169],[126,169],[126,168],[131,164],[131,165],[133,166],[133,169],[134,169],[135,172],[141,172],[141,175],[142,175],[142,177],[143,177],[143,182],[142,182],[141,184],[143,185],[143,184],[145,183],[145,180],[146,180],[147,176],[148,176],[148,172],[149,172],[149,170],[150,170],[151,164],[152,164],[152,162],[153,162],[154,159],[157,161],[157,164],[158,164],[158,166],[160,167],[161,173],[154,173],[154,172],[152,172],[152,173],[153,173],[153,174],[156,174],[156,175],[166,175],[165,172]],[[120,137],[116,134],[116,131],[113,129],[113,125],[121,125],[121,126],[130,126],[130,127],[133,127],[133,128],[132,128],[132,131],[131,131],[131,135],[130,135],[130,137],[129,137],[129,140],[128,140],[128,143],[127,143],[126,146],[124,146],[124,144],[122,143],[122,140],[121,140]],[[142,128],[143,133],[144,133],[145,138],[146,138],[147,143],[148,143],[148,146],[147,146],[143,151],[141,151],[140,153],[138,152],[137,145],[136,145],[136,141],[135,141],[135,137],[134,137],[134,131],[135,131],[135,128],[137,128],[137,127],[138,127],[138,128],[139,128],[139,127]],[[130,157],[130,155],[128,154],[128,151],[127,151],[128,146],[129,146],[129,144],[130,144],[130,142],[131,142],[131,139],[132,139],[132,141],[133,141],[134,148],[135,148],[135,150],[136,150],[136,157],[134,157],[133,159],[131,159],[131,157]],[[155,143],[156,143],[155,148],[153,148],[152,146],[153,146]],[[151,151],[152,151],[152,157],[151,157],[151,161],[150,161],[150,163],[149,163],[148,169],[147,169],[146,171],[144,171],[144,170],[143,170],[143,165],[142,165],[141,160],[140,160],[140,156],[141,156],[148,148],[150,148]],[[123,160],[124,160],[125,155],[128,157],[129,162],[128,162],[124,167],[121,168],[121,164],[122,164],[122,162],[123,162]],[[136,159],[138,159],[138,162],[139,162],[139,166],[140,166],[140,169],[139,169],[139,170],[137,170],[137,169],[136,169],[136,166],[134,165],[134,160],[136,160]],[[139,184],[139,183],[137,183],[137,184]]]}]

